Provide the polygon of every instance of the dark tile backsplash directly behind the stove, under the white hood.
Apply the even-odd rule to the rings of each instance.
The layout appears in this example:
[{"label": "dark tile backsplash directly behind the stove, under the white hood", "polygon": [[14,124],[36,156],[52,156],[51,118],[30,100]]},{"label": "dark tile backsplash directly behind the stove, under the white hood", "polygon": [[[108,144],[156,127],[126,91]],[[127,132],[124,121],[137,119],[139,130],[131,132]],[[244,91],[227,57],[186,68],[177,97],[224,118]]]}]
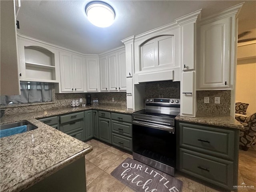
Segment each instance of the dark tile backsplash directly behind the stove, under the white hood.
[{"label": "dark tile backsplash directly behind the stove, under the white hood", "polygon": [[145,98],[180,98],[180,82],[147,82],[145,83]]}]

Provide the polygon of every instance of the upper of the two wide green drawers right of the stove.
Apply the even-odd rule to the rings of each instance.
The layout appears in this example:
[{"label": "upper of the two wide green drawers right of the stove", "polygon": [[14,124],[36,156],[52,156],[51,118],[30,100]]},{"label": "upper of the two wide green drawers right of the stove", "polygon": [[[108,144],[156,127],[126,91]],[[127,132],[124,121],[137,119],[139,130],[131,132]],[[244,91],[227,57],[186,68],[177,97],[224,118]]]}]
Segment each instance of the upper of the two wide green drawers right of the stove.
[{"label": "upper of the two wide green drawers right of the stove", "polygon": [[180,147],[234,159],[234,130],[180,122]]}]

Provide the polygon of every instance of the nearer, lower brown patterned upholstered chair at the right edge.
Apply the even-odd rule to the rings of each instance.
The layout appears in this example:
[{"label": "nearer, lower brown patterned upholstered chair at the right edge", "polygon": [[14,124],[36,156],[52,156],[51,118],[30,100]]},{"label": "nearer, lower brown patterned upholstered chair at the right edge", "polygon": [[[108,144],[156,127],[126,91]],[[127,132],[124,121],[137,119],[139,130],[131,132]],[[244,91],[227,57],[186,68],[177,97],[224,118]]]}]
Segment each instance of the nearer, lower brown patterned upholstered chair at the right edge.
[{"label": "nearer, lower brown patterned upholstered chair at the right edge", "polygon": [[250,146],[256,143],[256,113],[249,117],[238,116],[236,120],[244,126],[244,130],[240,130],[239,133],[239,147],[247,151]]}]

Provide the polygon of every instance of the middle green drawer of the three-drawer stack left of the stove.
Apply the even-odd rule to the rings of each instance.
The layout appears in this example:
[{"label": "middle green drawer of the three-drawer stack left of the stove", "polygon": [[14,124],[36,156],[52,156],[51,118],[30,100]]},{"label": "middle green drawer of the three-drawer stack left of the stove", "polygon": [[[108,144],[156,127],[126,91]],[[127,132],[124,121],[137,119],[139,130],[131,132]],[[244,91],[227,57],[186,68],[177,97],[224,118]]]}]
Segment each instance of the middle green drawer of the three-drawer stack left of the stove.
[{"label": "middle green drawer of the three-drawer stack left of the stove", "polygon": [[112,120],[111,121],[111,128],[112,132],[117,134],[122,134],[124,136],[132,137],[132,124],[131,123],[125,123],[125,122],[119,122]]}]

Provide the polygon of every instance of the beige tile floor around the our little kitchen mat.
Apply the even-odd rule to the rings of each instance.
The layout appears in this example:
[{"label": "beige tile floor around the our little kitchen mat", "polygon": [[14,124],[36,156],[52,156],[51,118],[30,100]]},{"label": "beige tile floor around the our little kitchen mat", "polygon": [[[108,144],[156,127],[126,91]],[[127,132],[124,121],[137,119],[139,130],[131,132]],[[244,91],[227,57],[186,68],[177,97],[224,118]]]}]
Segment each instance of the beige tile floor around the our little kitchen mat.
[{"label": "beige tile floor around the our little kitchen mat", "polygon": [[[98,140],[86,142],[93,151],[85,156],[87,192],[134,192],[131,188],[110,175],[110,173],[132,154]],[[183,181],[182,192],[227,192],[212,184],[176,172],[175,178]],[[242,183],[254,188],[238,190],[238,192],[256,192],[256,147],[248,151],[239,150],[238,185]]]}]

